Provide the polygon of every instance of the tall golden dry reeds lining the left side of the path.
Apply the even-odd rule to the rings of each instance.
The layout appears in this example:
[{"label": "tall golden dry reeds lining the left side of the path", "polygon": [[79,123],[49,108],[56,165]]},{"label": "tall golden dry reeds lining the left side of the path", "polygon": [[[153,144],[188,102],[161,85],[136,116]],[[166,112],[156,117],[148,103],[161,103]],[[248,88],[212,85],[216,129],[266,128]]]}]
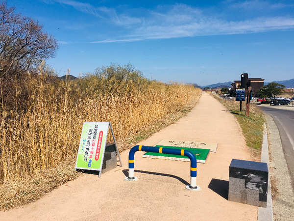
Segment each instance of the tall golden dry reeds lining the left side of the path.
[{"label": "tall golden dry reeds lining the left side of the path", "polygon": [[[74,164],[83,122],[111,122],[123,151],[185,115],[201,95],[191,85],[142,77],[118,80],[91,74],[53,81],[42,67],[37,77],[28,74],[27,79],[25,104],[15,84],[13,108],[1,105],[2,210],[35,201],[78,175]],[[1,96],[4,101],[2,87]]]}]

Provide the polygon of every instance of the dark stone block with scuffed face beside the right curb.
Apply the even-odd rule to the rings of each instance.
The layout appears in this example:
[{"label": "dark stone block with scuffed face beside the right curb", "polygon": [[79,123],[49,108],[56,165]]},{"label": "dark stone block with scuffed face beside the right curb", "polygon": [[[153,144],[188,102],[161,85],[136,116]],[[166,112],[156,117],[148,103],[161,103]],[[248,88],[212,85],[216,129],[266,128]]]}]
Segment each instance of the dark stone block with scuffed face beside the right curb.
[{"label": "dark stone block with scuffed face beside the right curb", "polygon": [[266,163],[233,159],[228,200],[267,207],[269,170]]}]

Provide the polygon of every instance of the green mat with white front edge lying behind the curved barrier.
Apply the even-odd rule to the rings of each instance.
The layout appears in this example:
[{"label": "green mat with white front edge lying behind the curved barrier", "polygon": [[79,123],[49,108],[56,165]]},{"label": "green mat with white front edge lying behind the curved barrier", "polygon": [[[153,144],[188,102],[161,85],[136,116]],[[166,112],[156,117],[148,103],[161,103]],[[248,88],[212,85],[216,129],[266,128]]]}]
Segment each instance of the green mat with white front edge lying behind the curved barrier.
[{"label": "green mat with white front edge lying behind the curved barrier", "polygon": [[[161,146],[161,145],[157,145],[156,147],[189,150],[196,157],[197,163],[205,163],[206,159],[207,159],[207,155],[209,153],[208,149],[200,149],[200,148],[189,148],[189,147],[178,147],[178,146]],[[147,152],[142,157],[174,160],[174,161],[190,161],[189,157],[186,157],[186,156],[173,155],[173,154],[163,154],[163,153],[153,153],[153,152]]]}]

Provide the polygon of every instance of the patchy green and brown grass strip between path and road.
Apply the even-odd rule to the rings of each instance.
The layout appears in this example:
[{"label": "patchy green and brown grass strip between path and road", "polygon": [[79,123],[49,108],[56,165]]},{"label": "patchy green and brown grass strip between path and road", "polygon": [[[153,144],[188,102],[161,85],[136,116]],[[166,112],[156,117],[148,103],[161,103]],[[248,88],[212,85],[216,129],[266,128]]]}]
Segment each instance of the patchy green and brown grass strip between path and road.
[{"label": "patchy green and brown grass strip between path and road", "polygon": [[220,101],[228,111],[234,114],[242,129],[246,145],[250,147],[253,156],[260,159],[265,122],[263,111],[256,105],[250,105],[249,117],[247,117],[245,114],[245,102],[243,102],[242,111],[240,111],[239,101],[226,100],[213,93],[210,93],[210,95]]}]

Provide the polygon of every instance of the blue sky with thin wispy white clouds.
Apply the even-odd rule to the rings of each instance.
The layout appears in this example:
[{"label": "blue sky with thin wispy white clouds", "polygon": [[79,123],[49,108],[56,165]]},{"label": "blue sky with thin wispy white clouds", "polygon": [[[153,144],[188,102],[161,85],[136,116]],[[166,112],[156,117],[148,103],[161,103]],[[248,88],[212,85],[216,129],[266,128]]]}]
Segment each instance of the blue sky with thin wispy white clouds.
[{"label": "blue sky with thin wispy white clouds", "polygon": [[59,76],[131,63],[148,79],[294,78],[294,0],[7,0],[60,48]]}]

